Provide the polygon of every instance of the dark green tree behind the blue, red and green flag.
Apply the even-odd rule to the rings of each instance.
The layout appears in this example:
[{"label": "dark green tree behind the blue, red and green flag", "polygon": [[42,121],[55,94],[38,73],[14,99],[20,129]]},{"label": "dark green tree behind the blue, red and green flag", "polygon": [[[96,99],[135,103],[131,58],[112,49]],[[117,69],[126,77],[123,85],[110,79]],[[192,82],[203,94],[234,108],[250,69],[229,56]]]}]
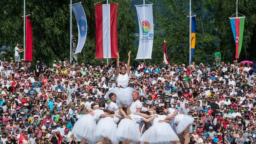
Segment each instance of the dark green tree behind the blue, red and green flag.
[{"label": "dark green tree behind the blue, red and green flag", "polygon": [[[223,59],[233,61],[235,59],[235,41],[232,34],[232,29],[229,17],[236,12],[236,2],[233,0],[215,0],[209,5],[214,8],[215,26],[218,31],[218,37],[221,39],[220,48]],[[248,59],[256,61],[254,50],[256,45],[256,3],[251,0],[239,0],[238,12],[245,15],[244,37],[242,42],[242,50],[239,56],[239,61]],[[240,14],[238,16],[241,16]],[[233,15],[235,17],[235,15]]]}]

